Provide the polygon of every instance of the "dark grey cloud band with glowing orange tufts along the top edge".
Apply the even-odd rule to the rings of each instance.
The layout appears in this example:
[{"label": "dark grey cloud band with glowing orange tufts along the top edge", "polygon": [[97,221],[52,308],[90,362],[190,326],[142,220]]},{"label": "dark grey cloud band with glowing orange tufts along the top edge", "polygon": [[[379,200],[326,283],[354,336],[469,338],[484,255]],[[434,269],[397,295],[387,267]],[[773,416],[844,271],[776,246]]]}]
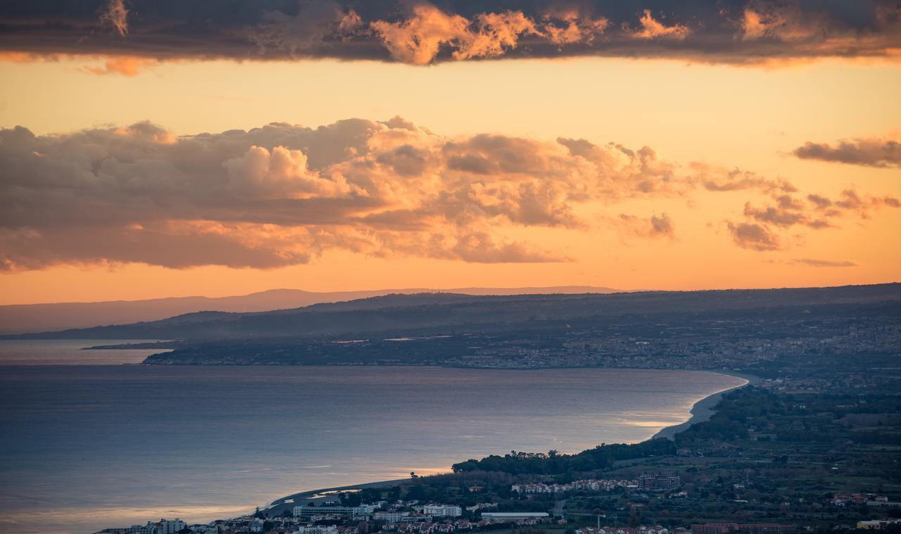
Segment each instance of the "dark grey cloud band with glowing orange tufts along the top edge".
[{"label": "dark grey cloud band with glowing orange tufts along the top edge", "polygon": [[0,5],[0,50],[154,60],[612,56],[756,64],[888,57],[901,46],[899,11],[895,0],[43,0]]}]

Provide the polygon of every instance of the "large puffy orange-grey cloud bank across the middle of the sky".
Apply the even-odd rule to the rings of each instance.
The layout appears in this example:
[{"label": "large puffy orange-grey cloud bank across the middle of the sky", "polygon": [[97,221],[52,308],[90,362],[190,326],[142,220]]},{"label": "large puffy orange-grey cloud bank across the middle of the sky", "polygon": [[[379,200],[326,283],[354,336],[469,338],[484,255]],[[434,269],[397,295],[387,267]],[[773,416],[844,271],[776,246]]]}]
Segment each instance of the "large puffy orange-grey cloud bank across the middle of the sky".
[{"label": "large puffy orange-grey cloud bank across the middle of the sky", "polygon": [[523,236],[606,227],[630,240],[678,240],[668,213],[622,213],[616,204],[736,191],[769,204],[745,204],[745,220],[727,224],[733,240],[766,251],[783,248],[785,231],[833,228],[843,217],[899,205],[850,189],[804,198],[783,179],[679,166],[649,147],[445,137],[400,117],[183,137],[150,122],[46,136],[16,127],[0,130],[0,168],[5,270],[117,262],[271,268],[328,250],[568,261],[566,249]]}]

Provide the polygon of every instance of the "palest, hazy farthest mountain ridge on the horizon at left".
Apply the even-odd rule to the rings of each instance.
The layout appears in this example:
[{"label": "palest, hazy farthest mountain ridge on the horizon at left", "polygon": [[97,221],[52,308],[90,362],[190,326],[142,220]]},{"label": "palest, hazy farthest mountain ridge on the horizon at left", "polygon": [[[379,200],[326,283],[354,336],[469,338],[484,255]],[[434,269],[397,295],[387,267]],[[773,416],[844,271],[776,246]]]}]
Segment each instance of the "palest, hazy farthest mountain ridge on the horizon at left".
[{"label": "palest, hazy farthest mountain ridge on the horizon at left", "polygon": [[386,294],[583,294],[616,293],[620,290],[588,285],[551,287],[463,287],[379,289],[369,291],[313,292],[300,289],[270,289],[259,293],[224,296],[185,296],[138,301],[96,303],[41,303],[0,305],[0,334],[69,330],[99,325],[159,321],[192,312],[268,312],[300,308],[317,303],[336,303]]}]

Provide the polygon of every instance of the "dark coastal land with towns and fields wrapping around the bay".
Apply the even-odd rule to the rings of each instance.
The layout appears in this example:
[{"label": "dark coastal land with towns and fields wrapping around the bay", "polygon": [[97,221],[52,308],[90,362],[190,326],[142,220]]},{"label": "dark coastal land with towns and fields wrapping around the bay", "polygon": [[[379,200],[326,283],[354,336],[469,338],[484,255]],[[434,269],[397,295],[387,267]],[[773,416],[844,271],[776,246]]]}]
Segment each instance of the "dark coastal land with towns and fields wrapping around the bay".
[{"label": "dark coastal land with towns and fields wrapping around the bay", "polygon": [[[278,499],[181,530],[105,534],[732,534],[901,531],[894,304],[536,322],[531,329],[196,344],[157,365],[705,369],[748,378],[633,444],[470,458],[444,475]],[[297,356],[301,355],[301,356]],[[705,404],[706,405],[706,404]],[[528,431],[523,429],[523,431]],[[159,525],[168,525],[159,522]]]}]

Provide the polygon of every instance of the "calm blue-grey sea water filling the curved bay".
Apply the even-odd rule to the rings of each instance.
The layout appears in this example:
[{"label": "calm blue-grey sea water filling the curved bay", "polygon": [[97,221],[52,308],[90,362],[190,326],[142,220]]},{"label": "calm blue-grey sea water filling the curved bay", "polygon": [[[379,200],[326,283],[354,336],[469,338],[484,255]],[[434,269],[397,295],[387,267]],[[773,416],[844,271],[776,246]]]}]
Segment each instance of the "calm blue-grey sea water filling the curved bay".
[{"label": "calm blue-grey sea water filling the curved bay", "polygon": [[[77,358],[50,354],[53,343],[32,363]],[[120,356],[149,351],[136,352]],[[206,521],[511,449],[639,441],[743,382],[651,370],[0,365],[0,531]]]}]

